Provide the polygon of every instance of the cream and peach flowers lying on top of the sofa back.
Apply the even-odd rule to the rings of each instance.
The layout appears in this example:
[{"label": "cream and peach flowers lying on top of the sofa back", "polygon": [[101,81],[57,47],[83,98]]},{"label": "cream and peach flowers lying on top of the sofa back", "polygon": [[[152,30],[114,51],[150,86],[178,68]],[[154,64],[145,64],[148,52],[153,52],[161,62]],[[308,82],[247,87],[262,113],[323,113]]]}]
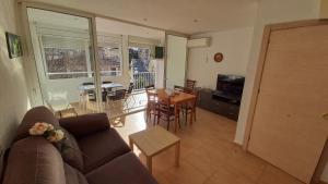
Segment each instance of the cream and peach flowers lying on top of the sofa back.
[{"label": "cream and peach flowers lying on top of the sofa back", "polygon": [[59,143],[65,139],[65,133],[56,130],[51,124],[37,122],[30,128],[30,135],[42,135],[50,143]]}]

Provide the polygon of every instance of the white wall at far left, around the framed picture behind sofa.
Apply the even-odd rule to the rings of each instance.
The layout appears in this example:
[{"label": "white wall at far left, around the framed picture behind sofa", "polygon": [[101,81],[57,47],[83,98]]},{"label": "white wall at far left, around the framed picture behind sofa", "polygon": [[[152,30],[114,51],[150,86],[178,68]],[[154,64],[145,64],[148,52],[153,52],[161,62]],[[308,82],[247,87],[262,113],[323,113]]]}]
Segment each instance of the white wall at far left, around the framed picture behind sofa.
[{"label": "white wall at far left, around the framed picture behind sofa", "polygon": [[16,5],[13,0],[0,1],[0,147],[7,148],[14,136],[28,99],[21,58],[9,59],[5,32],[20,34],[16,26]]}]

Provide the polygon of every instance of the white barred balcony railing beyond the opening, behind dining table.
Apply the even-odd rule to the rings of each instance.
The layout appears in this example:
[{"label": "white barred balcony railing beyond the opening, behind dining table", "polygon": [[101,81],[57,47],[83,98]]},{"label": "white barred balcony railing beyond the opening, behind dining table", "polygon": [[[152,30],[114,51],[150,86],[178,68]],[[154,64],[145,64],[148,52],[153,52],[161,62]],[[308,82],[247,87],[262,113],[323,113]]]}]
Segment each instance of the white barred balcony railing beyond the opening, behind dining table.
[{"label": "white barred balcony railing beyond the opening, behind dining table", "polygon": [[142,90],[145,86],[155,85],[155,72],[138,72],[133,74],[134,89]]}]

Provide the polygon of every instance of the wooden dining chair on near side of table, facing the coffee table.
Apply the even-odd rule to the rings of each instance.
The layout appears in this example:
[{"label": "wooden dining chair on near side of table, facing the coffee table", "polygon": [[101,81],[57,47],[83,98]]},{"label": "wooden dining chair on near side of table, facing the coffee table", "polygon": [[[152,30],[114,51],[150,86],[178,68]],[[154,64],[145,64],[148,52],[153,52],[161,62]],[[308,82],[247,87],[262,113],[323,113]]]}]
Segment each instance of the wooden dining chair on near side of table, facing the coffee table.
[{"label": "wooden dining chair on near side of table, facing the coffee table", "polygon": [[177,115],[177,116],[175,115],[174,107],[171,106],[171,99],[169,98],[163,98],[163,99],[160,100],[157,111],[159,111],[157,124],[160,124],[161,120],[166,122],[166,128],[168,131],[171,121],[174,121],[175,119],[178,119],[178,125],[180,127],[179,115]]}]

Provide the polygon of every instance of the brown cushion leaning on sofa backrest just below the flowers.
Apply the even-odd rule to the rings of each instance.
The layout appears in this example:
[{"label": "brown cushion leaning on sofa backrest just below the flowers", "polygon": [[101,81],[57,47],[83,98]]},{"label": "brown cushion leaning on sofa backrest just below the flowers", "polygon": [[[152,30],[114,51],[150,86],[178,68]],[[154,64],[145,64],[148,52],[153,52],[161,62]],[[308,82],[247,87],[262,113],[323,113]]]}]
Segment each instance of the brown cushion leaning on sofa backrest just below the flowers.
[{"label": "brown cushion leaning on sofa backrest just below the flowers", "polygon": [[63,140],[63,144],[68,146],[66,149],[61,151],[62,159],[70,164],[71,167],[83,171],[83,156],[82,151],[80,150],[80,147],[78,145],[77,139],[72,134],[70,134],[65,128],[61,128],[65,132],[66,139]]}]

